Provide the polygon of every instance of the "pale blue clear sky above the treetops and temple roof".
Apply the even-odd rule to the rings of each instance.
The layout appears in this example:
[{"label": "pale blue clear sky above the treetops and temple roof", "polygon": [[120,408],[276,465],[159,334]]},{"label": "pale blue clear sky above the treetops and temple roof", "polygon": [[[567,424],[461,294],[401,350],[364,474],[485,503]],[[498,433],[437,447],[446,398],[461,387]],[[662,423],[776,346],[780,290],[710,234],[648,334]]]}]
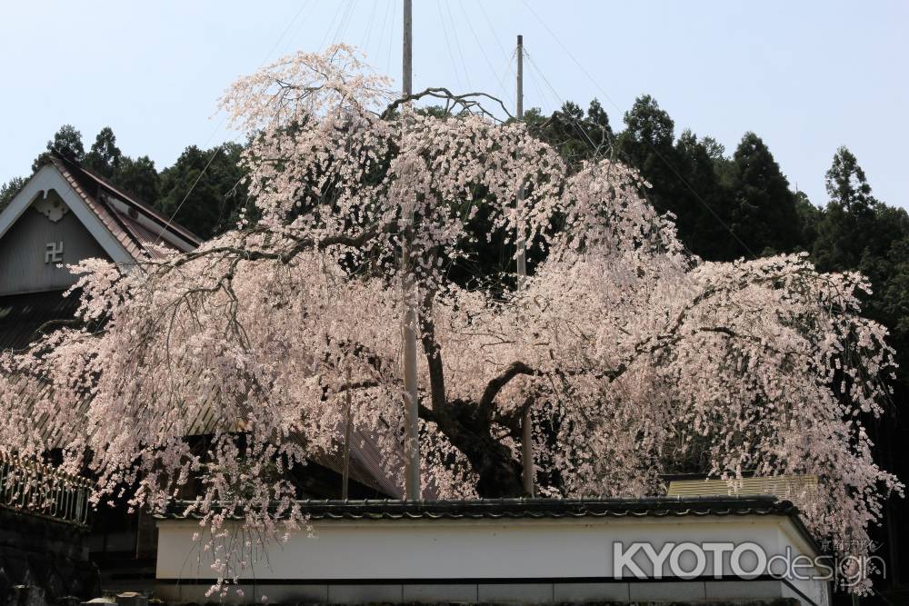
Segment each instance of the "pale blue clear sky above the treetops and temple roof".
[{"label": "pale blue clear sky above the treetops and temple roof", "polygon": [[[598,97],[614,126],[653,94],[676,134],[732,153],[764,138],[790,181],[824,204],[839,145],[880,199],[909,208],[909,3],[415,0],[415,88],[483,90],[513,103],[524,35],[525,107]],[[335,40],[400,75],[400,0],[3,2],[0,182],[27,175],[74,124],[86,148],[110,125],[158,168],[235,134],[215,114],[237,75]]]}]

